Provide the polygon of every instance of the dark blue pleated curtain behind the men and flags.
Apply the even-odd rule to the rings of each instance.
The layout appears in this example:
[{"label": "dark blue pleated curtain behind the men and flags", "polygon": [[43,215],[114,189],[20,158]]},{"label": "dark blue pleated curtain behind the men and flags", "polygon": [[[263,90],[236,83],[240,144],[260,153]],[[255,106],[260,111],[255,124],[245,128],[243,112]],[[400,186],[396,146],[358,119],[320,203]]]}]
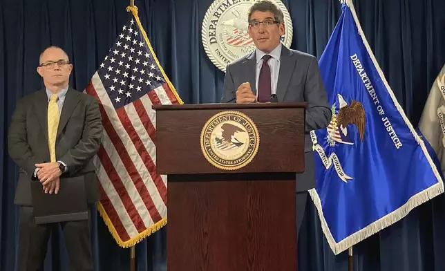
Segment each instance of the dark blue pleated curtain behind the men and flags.
[{"label": "dark blue pleated curtain behind the men and flags", "polygon": [[[128,18],[128,2],[0,0],[0,270],[15,269],[19,237],[13,204],[17,167],[8,158],[6,135],[17,100],[43,86],[35,70],[39,53],[49,45],[63,47],[74,65],[70,85],[83,91]],[[341,14],[339,1],[284,2],[294,27],[291,47],[320,57]],[[211,3],[136,1],[155,53],[185,103],[218,102],[223,92],[224,73],[211,64],[200,40]],[[355,0],[354,5],[377,61],[417,127],[430,86],[445,63],[445,1]],[[300,270],[348,270],[347,252],[332,254],[309,198],[307,204]],[[137,270],[167,269],[166,227],[136,246]],[[444,229],[445,199],[439,196],[354,246],[354,270],[445,270]],[[116,245],[98,215],[93,216],[92,231],[96,270],[129,270],[129,250]],[[67,270],[61,236],[53,232],[45,270]]]}]

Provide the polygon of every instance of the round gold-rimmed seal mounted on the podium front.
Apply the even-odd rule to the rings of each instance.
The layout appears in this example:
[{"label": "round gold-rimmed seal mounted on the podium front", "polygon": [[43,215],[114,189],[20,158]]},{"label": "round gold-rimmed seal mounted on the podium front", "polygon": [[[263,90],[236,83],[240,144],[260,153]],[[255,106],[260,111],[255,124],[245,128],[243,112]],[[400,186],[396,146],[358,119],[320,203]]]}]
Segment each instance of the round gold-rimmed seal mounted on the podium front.
[{"label": "round gold-rimmed seal mounted on the podium front", "polygon": [[238,111],[211,117],[201,131],[201,151],[218,169],[236,170],[249,164],[260,144],[255,123]]}]

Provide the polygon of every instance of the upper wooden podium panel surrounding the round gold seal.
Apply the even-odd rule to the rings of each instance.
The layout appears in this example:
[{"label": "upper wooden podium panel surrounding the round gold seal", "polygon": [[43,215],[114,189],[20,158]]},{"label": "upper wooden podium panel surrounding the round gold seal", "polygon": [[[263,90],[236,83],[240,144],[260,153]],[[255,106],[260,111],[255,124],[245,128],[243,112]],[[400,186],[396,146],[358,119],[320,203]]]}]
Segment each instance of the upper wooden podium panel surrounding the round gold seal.
[{"label": "upper wooden podium panel surrounding the round gold seal", "polygon": [[[158,174],[222,172],[303,172],[304,108],[158,110],[156,167]],[[202,130],[218,113],[236,112],[252,120],[258,131],[254,158],[239,169],[220,169],[202,151]],[[210,127],[212,128],[212,127]],[[236,128],[235,128],[236,129]],[[232,139],[236,144],[236,138]]]}]

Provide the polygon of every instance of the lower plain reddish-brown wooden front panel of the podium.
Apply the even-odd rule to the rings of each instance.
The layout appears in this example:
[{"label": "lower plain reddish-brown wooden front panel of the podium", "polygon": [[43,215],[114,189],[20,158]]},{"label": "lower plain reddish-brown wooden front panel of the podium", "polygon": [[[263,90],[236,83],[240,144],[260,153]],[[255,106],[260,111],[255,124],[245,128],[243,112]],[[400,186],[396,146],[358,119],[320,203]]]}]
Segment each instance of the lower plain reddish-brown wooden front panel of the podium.
[{"label": "lower plain reddish-brown wooden front panel of the podium", "polygon": [[263,175],[169,176],[167,269],[296,271],[295,174]]}]

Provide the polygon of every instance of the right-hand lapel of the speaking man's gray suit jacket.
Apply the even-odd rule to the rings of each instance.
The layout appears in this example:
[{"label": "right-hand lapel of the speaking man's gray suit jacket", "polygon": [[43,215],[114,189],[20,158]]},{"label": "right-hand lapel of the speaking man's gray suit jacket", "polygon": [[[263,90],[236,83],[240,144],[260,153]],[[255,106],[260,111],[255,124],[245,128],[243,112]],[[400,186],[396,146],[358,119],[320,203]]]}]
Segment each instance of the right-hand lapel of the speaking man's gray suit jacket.
[{"label": "right-hand lapel of the speaking man's gray suit jacket", "polygon": [[292,51],[282,45],[280,57],[280,73],[278,75],[278,83],[276,85],[276,97],[278,102],[283,102],[287,86],[289,86],[290,77],[294,73],[296,57],[293,57]]}]

